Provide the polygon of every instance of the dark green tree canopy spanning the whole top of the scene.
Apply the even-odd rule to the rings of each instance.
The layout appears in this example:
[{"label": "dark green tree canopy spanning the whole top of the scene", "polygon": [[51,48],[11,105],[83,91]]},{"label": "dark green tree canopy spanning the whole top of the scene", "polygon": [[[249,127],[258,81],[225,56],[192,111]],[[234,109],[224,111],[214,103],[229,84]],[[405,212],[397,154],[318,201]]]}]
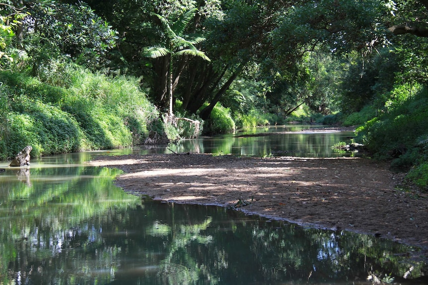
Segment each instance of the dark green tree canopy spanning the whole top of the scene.
[{"label": "dark green tree canopy spanning the whole top of the scene", "polygon": [[[313,86],[317,95],[307,92],[307,84],[314,82],[314,70],[308,72],[315,67],[309,63],[312,58],[336,57],[336,70],[359,62],[364,74],[364,64],[375,57],[393,57],[402,80],[425,80],[421,47],[428,34],[427,5],[424,0],[8,0],[1,4],[0,48],[3,58],[26,55],[34,75],[46,64],[52,67],[53,58],[71,58],[93,70],[142,76],[160,109],[168,108],[173,66],[173,102],[180,100],[183,110],[204,119],[217,103],[230,102],[226,97],[233,94],[228,92],[232,83],[244,78],[269,86],[261,93],[271,98],[271,110],[286,111],[292,107],[287,105],[302,101],[325,110],[319,98],[328,91]],[[147,47],[160,52],[174,43],[181,49],[167,24],[180,23],[189,11],[193,17],[180,27],[189,36],[182,38],[190,44],[180,51],[185,55],[146,57]],[[24,15],[22,21],[18,15]],[[188,57],[190,52],[200,57]],[[343,59],[356,56],[361,60]],[[296,84],[300,86],[291,88]],[[278,105],[278,100],[290,104]]]}]

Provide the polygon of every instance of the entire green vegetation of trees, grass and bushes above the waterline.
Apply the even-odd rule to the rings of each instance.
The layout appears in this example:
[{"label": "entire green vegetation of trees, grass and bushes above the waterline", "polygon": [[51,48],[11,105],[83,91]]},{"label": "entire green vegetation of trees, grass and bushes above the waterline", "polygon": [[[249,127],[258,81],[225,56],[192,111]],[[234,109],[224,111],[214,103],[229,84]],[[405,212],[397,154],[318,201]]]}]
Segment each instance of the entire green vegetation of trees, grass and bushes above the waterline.
[{"label": "entire green vegetation of trees, grass and bushes above the waterline", "polygon": [[318,121],[421,176],[427,18],[427,0],[2,0],[0,153]]}]

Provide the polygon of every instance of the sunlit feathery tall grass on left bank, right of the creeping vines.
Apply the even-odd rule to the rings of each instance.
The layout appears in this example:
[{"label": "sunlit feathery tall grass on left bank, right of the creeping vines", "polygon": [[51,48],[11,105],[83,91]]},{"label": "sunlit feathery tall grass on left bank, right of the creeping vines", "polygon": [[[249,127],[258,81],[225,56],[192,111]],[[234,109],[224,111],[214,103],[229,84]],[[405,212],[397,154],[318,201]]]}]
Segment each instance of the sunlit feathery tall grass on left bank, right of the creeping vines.
[{"label": "sunlit feathery tall grass on left bank, right of the creeping vines", "polygon": [[[87,110],[85,115],[90,114],[91,121],[100,124],[102,129],[122,134],[118,142],[110,140],[113,142],[111,147],[143,143],[149,132],[149,123],[158,118],[158,112],[140,90],[138,78],[112,78],[77,69],[71,72],[70,81],[70,90],[77,97],[69,99],[76,102],[75,106],[80,107],[82,103],[96,106]],[[87,116],[82,118],[85,123],[91,123],[87,120]],[[129,136],[123,126],[130,131]]]}]

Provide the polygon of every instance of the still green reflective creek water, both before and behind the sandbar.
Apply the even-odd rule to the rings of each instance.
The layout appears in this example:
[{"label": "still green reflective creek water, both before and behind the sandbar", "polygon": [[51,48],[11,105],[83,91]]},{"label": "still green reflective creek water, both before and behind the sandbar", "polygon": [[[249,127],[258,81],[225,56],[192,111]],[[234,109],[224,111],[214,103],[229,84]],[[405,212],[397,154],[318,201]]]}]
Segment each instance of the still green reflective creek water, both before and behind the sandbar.
[{"label": "still green reflective creek water, both before and behind the sandbar", "polygon": [[[334,156],[318,151],[350,136],[257,131],[272,135],[239,133],[168,148]],[[303,145],[309,147],[298,143],[304,132],[308,141]],[[65,154],[1,173],[0,284],[366,285],[376,279],[427,284],[422,277],[426,264],[410,261],[408,253],[416,249],[405,245],[220,207],[154,202],[116,187],[113,178],[119,171],[84,166],[99,154],[162,151],[168,152],[135,148]]]}]

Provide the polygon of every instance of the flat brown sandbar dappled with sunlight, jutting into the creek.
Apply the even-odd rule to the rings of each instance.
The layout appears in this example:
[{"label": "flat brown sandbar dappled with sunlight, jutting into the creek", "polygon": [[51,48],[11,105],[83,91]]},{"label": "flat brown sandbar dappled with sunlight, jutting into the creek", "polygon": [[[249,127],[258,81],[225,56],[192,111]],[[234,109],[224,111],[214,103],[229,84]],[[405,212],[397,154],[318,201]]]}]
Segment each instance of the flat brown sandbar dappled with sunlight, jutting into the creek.
[{"label": "flat brown sandbar dappled with sunlight, jutting into the creek", "polygon": [[364,158],[237,158],[207,154],[100,157],[116,184],[176,203],[218,205],[316,228],[393,239],[428,253],[428,199],[396,188],[388,166]]}]

